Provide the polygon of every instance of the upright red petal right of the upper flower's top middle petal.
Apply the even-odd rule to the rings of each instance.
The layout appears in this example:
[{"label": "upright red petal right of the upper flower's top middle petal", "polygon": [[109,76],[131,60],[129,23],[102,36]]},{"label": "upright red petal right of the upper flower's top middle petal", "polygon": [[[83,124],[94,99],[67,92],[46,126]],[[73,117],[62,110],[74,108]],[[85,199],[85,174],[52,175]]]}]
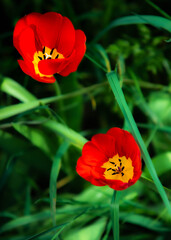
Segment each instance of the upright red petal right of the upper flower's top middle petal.
[{"label": "upright red petal right of the upper flower's top middle petal", "polygon": [[67,18],[63,17],[62,27],[57,41],[57,51],[62,53],[64,57],[68,57],[75,45],[75,29],[72,22]]}]

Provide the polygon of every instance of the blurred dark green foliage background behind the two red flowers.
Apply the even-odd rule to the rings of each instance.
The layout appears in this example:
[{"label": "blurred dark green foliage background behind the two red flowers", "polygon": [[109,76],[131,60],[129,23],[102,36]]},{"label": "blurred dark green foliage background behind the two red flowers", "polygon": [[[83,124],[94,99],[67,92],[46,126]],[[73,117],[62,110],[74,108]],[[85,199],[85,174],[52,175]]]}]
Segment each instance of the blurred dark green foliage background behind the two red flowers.
[{"label": "blurred dark green foliage background behind the two red flowers", "polygon": [[[112,189],[91,186],[76,174],[84,141],[76,132],[90,139],[111,127],[128,127],[105,73],[89,57],[105,69],[106,54],[112,69],[117,64],[126,100],[170,199],[170,32],[145,24],[123,25],[107,31],[95,42],[103,29],[124,16],[171,19],[169,0],[153,3],[156,5],[135,0],[1,0],[0,110],[4,112],[0,111],[0,239],[113,239]],[[22,72],[12,33],[24,15],[49,11],[67,16],[76,29],[85,32],[87,57],[77,72],[65,78],[56,76],[61,100],[27,108],[36,99],[56,96],[57,89],[55,84],[37,82]],[[69,95],[75,91],[76,96]],[[25,111],[13,114],[21,102],[28,104]],[[150,178],[144,165],[143,172]],[[49,192],[54,196],[56,174],[55,209],[50,208]],[[52,228],[55,217],[56,227]],[[149,180],[144,178],[122,192],[120,229],[123,240],[169,238],[168,213]]]}]

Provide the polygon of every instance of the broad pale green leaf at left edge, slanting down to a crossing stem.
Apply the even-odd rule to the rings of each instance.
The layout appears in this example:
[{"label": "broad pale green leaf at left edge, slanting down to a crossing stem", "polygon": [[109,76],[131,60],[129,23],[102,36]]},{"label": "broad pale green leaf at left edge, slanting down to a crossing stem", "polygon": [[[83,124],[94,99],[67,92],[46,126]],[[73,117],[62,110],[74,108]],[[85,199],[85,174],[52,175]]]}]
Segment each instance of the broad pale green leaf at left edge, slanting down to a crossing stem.
[{"label": "broad pale green leaf at left edge, slanting down to a crossing stem", "polygon": [[0,84],[0,90],[13,96],[21,102],[30,102],[36,100],[35,96],[33,96],[29,91],[11,78],[3,78]]}]

